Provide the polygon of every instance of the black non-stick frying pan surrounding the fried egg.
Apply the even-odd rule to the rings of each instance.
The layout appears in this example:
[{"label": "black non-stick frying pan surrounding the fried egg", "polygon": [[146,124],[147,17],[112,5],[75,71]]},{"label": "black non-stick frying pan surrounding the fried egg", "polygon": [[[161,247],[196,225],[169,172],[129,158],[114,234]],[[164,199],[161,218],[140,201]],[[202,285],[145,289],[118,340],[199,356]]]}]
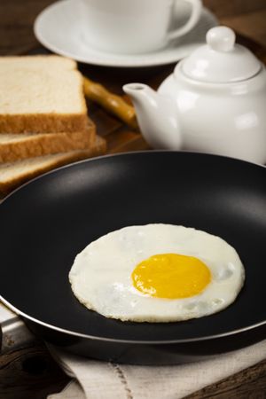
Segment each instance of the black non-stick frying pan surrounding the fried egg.
[{"label": "black non-stick frying pan surrounding the fried egg", "polygon": [[[33,332],[82,356],[174,364],[266,337],[266,169],[202,153],[153,151],[77,162],[0,206],[2,300]],[[237,300],[179,323],[129,323],[85,309],[68,272],[90,241],[132,224],[174,223],[220,236],[246,268]]]}]

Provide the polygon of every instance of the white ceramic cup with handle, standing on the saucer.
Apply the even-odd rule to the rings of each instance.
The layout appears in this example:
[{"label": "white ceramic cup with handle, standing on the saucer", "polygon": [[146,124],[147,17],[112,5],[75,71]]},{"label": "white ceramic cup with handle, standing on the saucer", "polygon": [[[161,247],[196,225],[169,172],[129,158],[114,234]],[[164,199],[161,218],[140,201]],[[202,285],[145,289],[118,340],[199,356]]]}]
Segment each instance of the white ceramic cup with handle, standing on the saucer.
[{"label": "white ceramic cup with handle, standing on the saucer", "polygon": [[158,50],[200,20],[201,1],[185,0],[192,6],[189,20],[170,30],[176,1],[80,0],[82,38],[100,51],[137,54]]}]

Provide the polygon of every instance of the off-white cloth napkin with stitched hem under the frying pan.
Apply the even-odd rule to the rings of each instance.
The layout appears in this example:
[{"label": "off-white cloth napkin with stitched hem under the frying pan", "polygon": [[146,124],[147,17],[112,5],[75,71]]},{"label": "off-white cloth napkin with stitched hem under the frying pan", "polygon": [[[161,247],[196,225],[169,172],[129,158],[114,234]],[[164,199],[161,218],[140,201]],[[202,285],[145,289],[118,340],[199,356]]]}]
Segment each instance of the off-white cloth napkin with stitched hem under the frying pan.
[{"label": "off-white cloth napkin with stitched hem under the frying pan", "polygon": [[74,378],[49,399],[180,399],[266,358],[266,340],[198,363],[173,366],[110,364],[50,345],[49,349]]}]

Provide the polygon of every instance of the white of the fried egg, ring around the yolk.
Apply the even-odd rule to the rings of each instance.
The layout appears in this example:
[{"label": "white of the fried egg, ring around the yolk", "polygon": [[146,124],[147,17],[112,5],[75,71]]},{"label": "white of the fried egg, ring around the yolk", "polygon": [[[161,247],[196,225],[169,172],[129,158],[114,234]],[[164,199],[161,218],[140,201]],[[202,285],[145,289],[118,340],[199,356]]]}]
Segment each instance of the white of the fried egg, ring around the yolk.
[{"label": "white of the fried egg, ring around the yolk", "polygon": [[[204,262],[212,280],[200,294],[161,299],[140,293],[131,273],[154,254],[186,254]],[[223,239],[173,224],[128,226],[91,242],[74,260],[69,281],[88,309],[122,321],[173,322],[203,317],[235,301],[245,280],[239,254]]]}]

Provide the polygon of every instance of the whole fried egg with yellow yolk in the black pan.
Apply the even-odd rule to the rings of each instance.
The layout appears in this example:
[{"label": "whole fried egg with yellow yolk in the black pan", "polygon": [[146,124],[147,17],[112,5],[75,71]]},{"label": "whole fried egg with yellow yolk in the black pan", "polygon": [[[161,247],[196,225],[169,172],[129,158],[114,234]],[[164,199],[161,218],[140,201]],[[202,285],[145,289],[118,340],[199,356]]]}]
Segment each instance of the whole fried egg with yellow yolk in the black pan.
[{"label": "whole fried egg with yellow yolk in the black pan", "polygon": [[173,322],[203,317],[235,301],[245,280],[239,254],[223,239],[173,224],[128,226],[75,257],[76,298],[105,317]]}]

